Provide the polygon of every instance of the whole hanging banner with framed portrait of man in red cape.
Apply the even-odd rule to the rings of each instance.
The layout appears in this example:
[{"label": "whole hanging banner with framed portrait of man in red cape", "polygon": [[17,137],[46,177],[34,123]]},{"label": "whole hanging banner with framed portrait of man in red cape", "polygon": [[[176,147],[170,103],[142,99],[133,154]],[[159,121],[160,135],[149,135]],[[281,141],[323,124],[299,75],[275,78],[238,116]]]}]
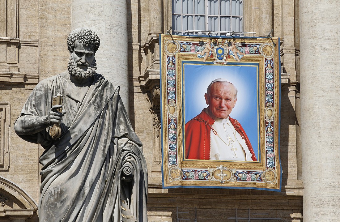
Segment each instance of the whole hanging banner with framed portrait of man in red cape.
[{"label": "whole hanging banner with framed portrait of man in red cape", "polygon": [[163,188],[280,191],[279,39],[159,39]]}]

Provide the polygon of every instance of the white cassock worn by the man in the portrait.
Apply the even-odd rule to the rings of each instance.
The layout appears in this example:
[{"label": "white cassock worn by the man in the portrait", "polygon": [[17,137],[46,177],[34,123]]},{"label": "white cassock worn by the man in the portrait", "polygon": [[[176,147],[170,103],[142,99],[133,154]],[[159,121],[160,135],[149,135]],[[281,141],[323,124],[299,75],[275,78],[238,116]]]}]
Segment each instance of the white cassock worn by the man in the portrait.
[{"label": "white cassock worn by the man in the portrait", "polygon": [[210,159],[211,160],[246,160],[253,161],[244,139],[227,119],[216,118],[210,131]]}]

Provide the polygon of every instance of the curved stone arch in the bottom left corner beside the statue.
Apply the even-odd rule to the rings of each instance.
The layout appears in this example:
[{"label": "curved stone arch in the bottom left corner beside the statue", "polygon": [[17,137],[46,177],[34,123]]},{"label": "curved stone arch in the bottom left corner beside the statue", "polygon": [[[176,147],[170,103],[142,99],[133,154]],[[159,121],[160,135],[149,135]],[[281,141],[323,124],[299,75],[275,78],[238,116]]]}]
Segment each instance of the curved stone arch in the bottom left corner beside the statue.
[{"label": "curved stone arch in the bottom left corner beside the statue", "polygon": [[38,205],[20,187],[0,176],[0,220],[25,221],[38,210]]}]

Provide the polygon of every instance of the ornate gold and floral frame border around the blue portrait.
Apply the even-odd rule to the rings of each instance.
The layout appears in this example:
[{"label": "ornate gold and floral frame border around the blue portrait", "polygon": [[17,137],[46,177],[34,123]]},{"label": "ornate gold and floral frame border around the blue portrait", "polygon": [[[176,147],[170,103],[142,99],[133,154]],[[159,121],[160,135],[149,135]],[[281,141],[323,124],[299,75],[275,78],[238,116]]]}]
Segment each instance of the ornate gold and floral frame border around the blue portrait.
[{"label": "ornate gold and floral frame border around the blue portrait", "polygon": [[[163,187],[214,187],[268,189],[280,191],[282,169],[279,160],[280,50],[278,38],[232,38],[160,35],[160,85],[162,109]],[[208,41],[210,39],[210,41]],[[202,44],[203,42],[203,44]],[[206,44],[204,44],[206,42]],[[227,50],[224,61],[210,52],[208,62],[255,62],[260,81],[260,161],[185,160],[181,116],[181,61],[196,58],[207,44],[224,50],[231,44],[244,55]],[[223,52],[223,50],[221,50]],[[216,52],[215,52],[216,53]],[[242,54],[240,53],[240,54]],[[238,56],[238,57],[237,57]],[[223,57],[223,56],[222,56]],[[219,57],[221,58],[221,57]],[[210,63],[211,64],[211,63]]]}]

